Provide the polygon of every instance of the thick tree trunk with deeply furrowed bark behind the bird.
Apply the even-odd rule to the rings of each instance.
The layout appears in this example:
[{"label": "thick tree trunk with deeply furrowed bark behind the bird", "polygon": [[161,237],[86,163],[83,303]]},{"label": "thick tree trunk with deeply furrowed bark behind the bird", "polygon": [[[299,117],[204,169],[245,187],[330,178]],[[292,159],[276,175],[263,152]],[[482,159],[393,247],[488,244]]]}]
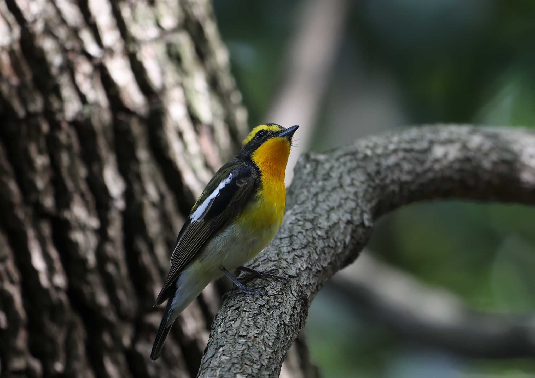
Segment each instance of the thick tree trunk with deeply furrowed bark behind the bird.
[{"label": "thick tree trunk with deeply furrowed bark behind the bird", "polygon": [[209,2],[0,2],[0,122],[1,376],[195,376],[216,286],[149,354],[178,231],[247,132]]}]

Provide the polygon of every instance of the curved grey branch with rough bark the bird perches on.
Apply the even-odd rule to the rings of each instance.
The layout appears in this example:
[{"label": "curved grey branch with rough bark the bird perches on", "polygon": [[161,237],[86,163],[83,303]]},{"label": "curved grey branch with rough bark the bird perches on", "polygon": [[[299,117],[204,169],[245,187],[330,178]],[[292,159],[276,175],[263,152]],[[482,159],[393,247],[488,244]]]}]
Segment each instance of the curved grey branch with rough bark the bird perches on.
[{"label": "curved grey branch with rough bark the bird perches on", "polygon": [[291,281],[256,280],[264,295],[225,300],[198,376],[277,376],[325,282],[368,243],[373,220],[419,200],[535,204],[535,134],[475,127],[412,128],[300,158],[284,223],[251,264]]}]

